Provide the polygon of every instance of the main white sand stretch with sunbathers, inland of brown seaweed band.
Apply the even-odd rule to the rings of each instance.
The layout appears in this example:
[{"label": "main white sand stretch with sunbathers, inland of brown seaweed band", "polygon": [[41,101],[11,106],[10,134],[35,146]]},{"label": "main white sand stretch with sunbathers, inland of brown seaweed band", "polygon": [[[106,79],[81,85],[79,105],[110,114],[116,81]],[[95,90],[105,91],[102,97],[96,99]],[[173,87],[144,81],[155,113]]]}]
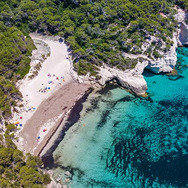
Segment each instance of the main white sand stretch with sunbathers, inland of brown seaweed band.
[{"label": "main white sand stretch with sunbathers, inland of brown seaweed band", "polygon": [[[19,121],[22,126],[31,118],[44,99],[52,95],[52,93],[61,86],[73,81],[70,74],[70,63],[67,59],[67,46],[64,43],[52,40],[49,37],[44,38],[37,34],[31,34],[30,36],[32,39],[42,40],[48,44],[51,52],[50,57],[42,63],[42,67],[34,79],[29,80],[26,76],[18,83],[19,90],[23,95],[22,104],[24,107],[18,108],[19,113],[14,113],[11,121],[14,123]],[[48,74],[50,74],[51,77],[48,76]],[[55,76],[53,76],[53,74],[55,74]],[[58,79],[56,79],[57,77]],[[53,83],[49,84],[49,81],[52,81]],[[39,90],[44,90],[44,88],[50,89],[46,89],[46,92],[39,92]],[[20,117],[22,117],[22,119],[20,119]]]}]

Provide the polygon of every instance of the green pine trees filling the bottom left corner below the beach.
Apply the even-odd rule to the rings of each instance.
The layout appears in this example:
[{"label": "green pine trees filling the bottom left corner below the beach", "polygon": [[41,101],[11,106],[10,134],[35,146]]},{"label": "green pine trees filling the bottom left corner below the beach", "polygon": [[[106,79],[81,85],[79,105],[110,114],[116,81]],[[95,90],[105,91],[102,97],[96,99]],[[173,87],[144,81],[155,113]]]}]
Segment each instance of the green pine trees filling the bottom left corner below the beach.
[{"label": "green pine trees filling the bottom left corner below the beach", "polygon": [[41,171],[42,161],[17,149],[12,142],[14,129],[14,125],[6,124],[6,132],[0,137],[0,187],[45,187],[51,180]]}]

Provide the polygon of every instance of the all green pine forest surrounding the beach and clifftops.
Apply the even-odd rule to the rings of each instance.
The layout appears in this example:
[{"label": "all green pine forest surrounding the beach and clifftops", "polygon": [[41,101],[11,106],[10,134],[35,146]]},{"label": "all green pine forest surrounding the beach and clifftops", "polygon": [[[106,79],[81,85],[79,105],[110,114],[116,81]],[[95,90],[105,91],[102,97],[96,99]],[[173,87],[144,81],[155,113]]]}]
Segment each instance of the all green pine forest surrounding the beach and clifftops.
[{"label": "all green pine forest surrounding the beach and clifftops", "polygon": [[[168,51],[178,26],[175,5],[188,9],[187,0],[0,0],[1,118],[10,117],[11,107],[22,97],[15,83],[30,69],[35,49],[30,32],[63,37],[77,73],[89,71],[97,79],[102,63],[121,70],[134,68],[137,60],[122,54],[141,54],[150,36],[158,42],[145,55],[159,58],[159,50]],[[41,172],[41,161],[16,148],[13,131],[14,125],[6,123],[6,132],[0,134],[0,187],[45,187],[50,179]]]}]

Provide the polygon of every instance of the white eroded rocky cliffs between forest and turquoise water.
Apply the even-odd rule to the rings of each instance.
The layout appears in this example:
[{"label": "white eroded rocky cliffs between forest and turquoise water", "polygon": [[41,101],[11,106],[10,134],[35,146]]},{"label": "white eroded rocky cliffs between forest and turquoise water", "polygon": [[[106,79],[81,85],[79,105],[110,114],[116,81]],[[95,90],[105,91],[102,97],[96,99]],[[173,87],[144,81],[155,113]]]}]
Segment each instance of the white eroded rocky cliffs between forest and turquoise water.
[{"label": "white eroded rocky cliffs between forest and turquoise water", "polygon": [[[154,57],[148,58],[146,55],[133,55],[133,54],[124,54],[125,58],[138,58],[142,57],[144,59],[142,62],[138,62],[136,67],[131,70],[119,70],[117,68],[110,68],[107,65],[103,65],[100,68],[99,75],[101,79],[97,81],[100,85],[104,85],[106,82],[116,78],[119,83],[134,92],[137,95],[143,95],[147,90],[147,83],[142,76],[142,73],[145,68],[151,70],[154,73],[160,72],[171,72],[177,61],[176,48],[180,45],[188,45],[188,26],[185,23],[186,14],[182,9],[177,9],[177,14],[175,19],[179,23],[179,29],[173,34],[173,45],[167,52],[164,52],[164,46],[161,48],[160,55],[161,58],[155,59]],[[146,41],[143,49],[146,48],[153,42],[158,39],[151,37],[150,41]],[[96,84],[95,79],[90,77],[89,74],[86,76],[75,76],[74,78],[79,82],[90,82],[91,84]]]}]

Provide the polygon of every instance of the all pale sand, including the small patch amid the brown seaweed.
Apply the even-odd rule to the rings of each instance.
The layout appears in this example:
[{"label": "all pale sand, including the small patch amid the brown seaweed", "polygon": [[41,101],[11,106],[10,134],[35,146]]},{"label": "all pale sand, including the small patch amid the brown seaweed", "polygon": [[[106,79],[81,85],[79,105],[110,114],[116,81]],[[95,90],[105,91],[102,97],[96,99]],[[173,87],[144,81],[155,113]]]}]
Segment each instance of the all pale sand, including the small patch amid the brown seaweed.
[{"label": "all pale sand, including the small patch amid the brown seaweed", "polygon": [[[17,139],[16,145],[21,150],[24,140],[20,138],[20,132],[36,114],[38,107],[62,86],[74,82],[70,71],[68,47],[58,40],[60,37],[44,36],[37,33],[31,33],[30,37],[34,40],[37,49],[32,52],[29,73],[16,83],[22,94],[22,101],[18,101],[17,107],[12,111],[13,116],[9,120],[17,128],[15,136],[18,136],[19,139]],[[37,74],[31,78],[35,72],[35,66],[38,64],[40,66],[37,69]],[[48,126],[53,126],[49,125],[50,121],[46,123]],[[41,129],[43,129],[42,126]],[[48,132],[47,129],[45,132]],[[41,139],[43,136],[44,133],[41,135]]]}]

